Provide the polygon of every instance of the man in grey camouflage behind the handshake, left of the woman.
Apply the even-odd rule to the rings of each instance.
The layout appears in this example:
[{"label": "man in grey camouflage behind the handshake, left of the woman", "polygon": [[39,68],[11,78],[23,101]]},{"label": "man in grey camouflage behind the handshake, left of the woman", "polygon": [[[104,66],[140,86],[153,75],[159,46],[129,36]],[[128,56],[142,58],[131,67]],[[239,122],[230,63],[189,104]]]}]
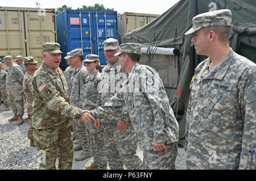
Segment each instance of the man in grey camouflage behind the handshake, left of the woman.
[{"label": "man in grey camouflage behind the handshake, left of the woman", "polygon": [[[70,64],[72,68],[74,68],[71,77],[70,103],[72,106],[81,108],[82,103],[84,103],[84,100],[82,99],[84,96],[82,95],[84,94],[85,89],[83,79],[86,79],[89,73],[82,64],[82,61],[84,60],[82,49],[72,50],[69,54],[69,58]],[[82,161],[91,157],[89,136],[86,133],[85,124],[81,123],[81,121],[73,120],[73,128],[78,142],[78,145],[75,146],[74,150],[82,149],[81,154],[77,155],[75,160]]]}]

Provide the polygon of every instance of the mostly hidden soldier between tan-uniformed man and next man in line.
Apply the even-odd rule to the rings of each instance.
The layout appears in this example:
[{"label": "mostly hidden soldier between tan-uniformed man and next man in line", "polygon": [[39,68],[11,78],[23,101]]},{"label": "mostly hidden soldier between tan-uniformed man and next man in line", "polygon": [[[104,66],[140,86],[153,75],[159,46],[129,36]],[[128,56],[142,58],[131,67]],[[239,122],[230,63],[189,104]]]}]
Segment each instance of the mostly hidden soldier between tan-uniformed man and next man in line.
[{"label": "mostly hidden soldier between tan-uniformed man and next man in line", "polygon": [[[64,73],[64,77],[68,83],[68,92],[69,92],[69,95],[71,95],[71,77],[72,77],[72,74],[73,74],[73,68],[72,66],[70,66],[70,58],[69,58],[69,54],[70,52],[67,53],[67,56],[65,56],[65,60],[67,61],[67,64],[69,65],[65,71],[63,72]],[[73,121],[72,121],[72,124],[73,124]],[[73,127],[72,125],[72,138],[73,138],[73,141],[75,140],[75,144],[77,144],[77,140],[76,140],[76,134],[75,134],[75,127]]]}]

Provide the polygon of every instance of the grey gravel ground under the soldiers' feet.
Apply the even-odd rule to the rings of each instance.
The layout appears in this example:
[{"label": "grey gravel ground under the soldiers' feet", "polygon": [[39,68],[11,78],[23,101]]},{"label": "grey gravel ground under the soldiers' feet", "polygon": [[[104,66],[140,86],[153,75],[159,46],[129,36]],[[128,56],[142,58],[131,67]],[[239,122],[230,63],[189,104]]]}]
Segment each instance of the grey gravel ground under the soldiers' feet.
[{"label": "grey gravel ground under the soldiers' feet", "polygon": [[[27,138],[28,131],[28,116],[25,110],[23,115],[23,124],[16,125],[17,121],[8,122],[8,119],[13,117],[12,111],[4,111],[5,106],[0,107],[0,170],[37,170],[38,151],[35,147],[30,146],[30,141]],[[75,145],[75,144],[74,144]],[[75,151],[74,157],[81,153]],[[185,159],[186,153],[184,148],[178,149],[176,158],[176,170],[186,170]],[[143,158],[143,152],[137,149],[139,158]],[[84,170],[85,165],[91,163],[93,158],[85,159],[84,161],[75,161],[73,159],[72,170]],[[57,163],[56,163],[57,165]],[[108,167],[109,169],[109,167]]]}]

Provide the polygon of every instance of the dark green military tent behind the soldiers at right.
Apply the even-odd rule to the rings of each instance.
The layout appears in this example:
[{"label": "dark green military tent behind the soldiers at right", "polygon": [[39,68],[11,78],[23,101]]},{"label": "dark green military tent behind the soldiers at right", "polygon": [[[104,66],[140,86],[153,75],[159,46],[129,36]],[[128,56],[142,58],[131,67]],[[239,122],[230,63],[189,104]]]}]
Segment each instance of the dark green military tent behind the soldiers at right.
[{"label": "dark green military tent behind the soldiers at right", "polygon": [[[164,5],[163,5],[164,6]],[[166,88],[170,105],[180,127],[180,144],[185,136],[185,112],[189,101],[189,84],[196,66],[205,56],[198,56],[191,43],[192,18],[207,11],[230,9],[232,32],[230,47],[256,62],[256,1],[254,0],[180,0],[169,10],[142,28],[119,35],[120,43],[140,43],[141,64],[155,68]],[[171,53],[157,53],[158,50]]]}]

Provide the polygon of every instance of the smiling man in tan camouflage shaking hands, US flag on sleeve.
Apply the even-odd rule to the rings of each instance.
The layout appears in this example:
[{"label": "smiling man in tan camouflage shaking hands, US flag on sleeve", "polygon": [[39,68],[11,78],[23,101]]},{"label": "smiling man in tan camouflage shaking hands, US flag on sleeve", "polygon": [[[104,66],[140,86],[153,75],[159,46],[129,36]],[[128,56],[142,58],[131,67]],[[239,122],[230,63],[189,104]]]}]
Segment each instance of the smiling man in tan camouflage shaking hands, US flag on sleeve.
[{"label": "smiling man in tan camouflage shaking hands, US flag on sleeve", "polygon": [[60,53],[58,43],[44,43],[44,61],[32,79],[32,126],[34,143],[39,153],[39,169],[56,169],[58,148],[58,169],[72,169],[71,120],[85,120],[88,115],[69,104],[67,82],[59,68]]}]

